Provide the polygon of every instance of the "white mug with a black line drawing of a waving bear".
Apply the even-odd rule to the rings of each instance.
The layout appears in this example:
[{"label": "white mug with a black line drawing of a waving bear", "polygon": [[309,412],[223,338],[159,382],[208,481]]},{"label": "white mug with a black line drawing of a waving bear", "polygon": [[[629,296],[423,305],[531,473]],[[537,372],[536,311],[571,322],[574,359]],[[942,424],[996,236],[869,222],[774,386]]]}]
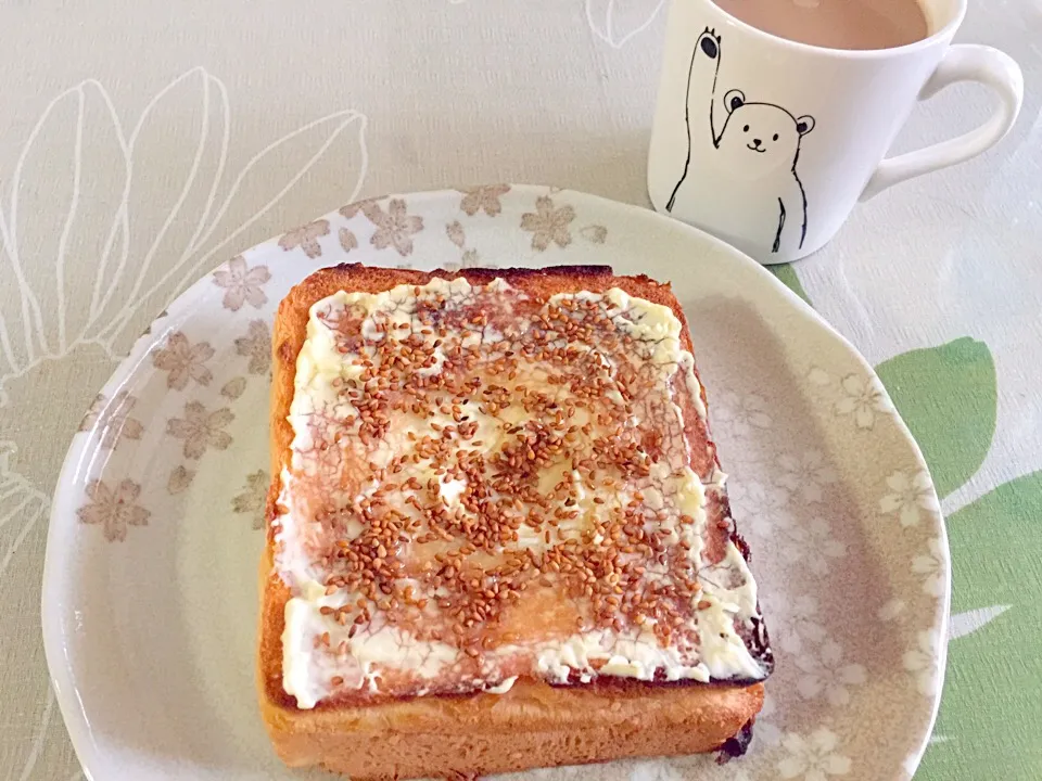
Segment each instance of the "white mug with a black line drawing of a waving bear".
[{"label": "white mug with a black line drawing of a waving bear", "polygon": [[[841,50],[764,33],[712,0],[674,0],[648,154],[656,209],[787,263],[828,242],[859,201],[995,144],[1024,101],[1020,68],[995,49],[951,46],[966,0],[919,3],[929,37]],[[995,91],[991,118],[885,159],[916,101],[956,81]]]}]

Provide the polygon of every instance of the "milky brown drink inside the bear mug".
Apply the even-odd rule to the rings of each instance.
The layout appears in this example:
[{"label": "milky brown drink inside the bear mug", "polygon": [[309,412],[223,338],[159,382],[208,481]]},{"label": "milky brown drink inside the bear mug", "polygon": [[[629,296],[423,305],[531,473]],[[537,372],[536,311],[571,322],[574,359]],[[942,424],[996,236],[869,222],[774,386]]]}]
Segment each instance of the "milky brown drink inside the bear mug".
[{"label": "milky brown drink inside the bear mug", "polygon": [[827,49],[891,49],[929,34],[918,0],[713,0],[779,38]]}]

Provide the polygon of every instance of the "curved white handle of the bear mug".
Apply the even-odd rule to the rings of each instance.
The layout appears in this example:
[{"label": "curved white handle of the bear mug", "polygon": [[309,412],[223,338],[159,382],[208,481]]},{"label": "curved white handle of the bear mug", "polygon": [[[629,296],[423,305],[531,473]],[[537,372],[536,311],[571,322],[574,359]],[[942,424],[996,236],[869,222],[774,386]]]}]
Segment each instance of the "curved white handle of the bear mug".
[{"label": "curved white handle of the bear mug", "polygon": [[953,46],[919,92],[919,100],[928,100],[958,81],[978,81],[999,94],[999,105],[991,118],[957,138],[882,161],[861,193],[861,201],[898,182],[976,157],[1009,132],[1024,103],[1024,74],[1013,57],[991,47]]}]

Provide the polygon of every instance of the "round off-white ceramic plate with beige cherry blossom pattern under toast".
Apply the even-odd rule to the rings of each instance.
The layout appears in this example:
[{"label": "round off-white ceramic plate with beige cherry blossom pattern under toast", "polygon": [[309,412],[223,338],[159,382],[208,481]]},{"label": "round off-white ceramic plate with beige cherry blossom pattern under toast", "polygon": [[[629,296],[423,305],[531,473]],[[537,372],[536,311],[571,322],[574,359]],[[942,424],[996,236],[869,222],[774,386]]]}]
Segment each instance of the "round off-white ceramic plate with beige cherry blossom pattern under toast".
[{"label": "round off-white ceramic plate with beige cherry blossom pattern under toast", "polygon": [[543,778],[911,776],[943,677],[949,554],[926,466],[872,370],[698,231],[501,185],[344,207],[243,253],[174,302],[98,396],[56,489],[43,584],[48,663],[93,781],[310,777],[279,764],[255,706],[269,324],[294,283],[345,260],[608,264],[671,280],[691,322],[777,657],[755,740],[723,767]]}]

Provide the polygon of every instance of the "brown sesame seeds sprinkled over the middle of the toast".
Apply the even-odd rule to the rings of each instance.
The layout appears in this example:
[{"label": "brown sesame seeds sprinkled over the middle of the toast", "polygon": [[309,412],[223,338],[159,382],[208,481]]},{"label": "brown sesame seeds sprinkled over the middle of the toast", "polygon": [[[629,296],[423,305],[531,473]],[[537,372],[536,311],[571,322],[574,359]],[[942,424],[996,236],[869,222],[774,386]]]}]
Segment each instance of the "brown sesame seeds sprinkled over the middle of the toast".
[{"label": "brown sesame seeds sprinkled over the middle of the toast", "polygon": [[[353,510],[363,532],[336,540],[323,560],[325,566],[342,572],[326,582],[327,594],[340,589],[360,594],[354,604],[359,612],[323,614],[334,612],[341,625],[352,622],[351,637],[371,620],[371,611],[395,624],[411,620],[409,614],[415,618],[416,607],[424,612],[430,637],[449,636],[450,626],[459,646],[474,655],[490,648],[482,627],[498,620],[500,605],[516,601],[530,582],[542,582],[587,600],[586,625],[621,630],[651,616],[656,637],[669,642],[674,627],[681,631],[687,620],[683,605],[700,587],[695,564],[677,555],[690,543],[671,530],[675,522],[694,524],[694,518],[679,514],[669,496],[661,511],[643,503],[644,489],[655,484],[651,468],[669,463],[671,453],[686,447],[669,408],[656,411],[660,398],[665,405],[672,399],[656,395],[668,393],[669,377],[655,377],[648,345],[628,335],[624,313],[612,315],[617,334],[603,300],[564,297],[560,306],[546,305],[526,316],[539,327],[526,329],[499,322],[505,310],[498,298],[485,307],[479,293],[473,305],[458,306],[455,299],[416,291],[422,297],[412,323],[419,321],[422,330],[381,315],[372,318],[374,330],[395,333],[367,341],[365,350],[346,343],[341,350],[345,361],[361,370],[357,380],[338,381],[341,398],[357,410],[347,424],[358,425],[357,438],[338,432],[336,447],[320,438],[316,452],[339,457],[354,447],[376,490],[368,488]],[[442,318],[437,312],[446,306]],[[506,334],[503,342],[461,344],[468,335],[482,336],[478,327],[490,323]],[[433,347],[428,337],[434,337]],[[437,347],[444,356],[439,370],[419,373],[437,363]],[[512,388],[499,384],[512,385],[519,377],[523,383]],[[608,402],[611,390],[625,404]],[[452,415],[453,424],[431,421],[435,413]],[[524,419],[514,422],[517,413]],[[648,425],[633,423],[641,414]],[[371,453],[410,415],[430,421],[433,435],[406,428],[406,449],[378,469]],[[472,440],[479,423],[484,424],[479,415],[493,419],[497,436],[506,437],[487,452],[476,450],[487,447],[485,440]],[[460,449],[460,440],[474,449]],[[582,485],[573,485],[566,471],[551,491],[543,492],[542,476],[568,466],[581,475]],[[449,481],[465,485],[455,502],[442,496],[440,484]],[[596,510],[581,513],[580,488],[594,494]],[[582,528],[573,529],[581,514]],[[321,523],[339,522],[331,515]],[[524,527],[539,535],[547,549],[535,553],[521,548],[519,530]],[[551,546],[554,528],[561,532]],[[425,558],[419,548],[429,545],[446,550]],[[441,627],[445,616],[448,622]],[[582,618],[576,626],[583,628]]]}]

